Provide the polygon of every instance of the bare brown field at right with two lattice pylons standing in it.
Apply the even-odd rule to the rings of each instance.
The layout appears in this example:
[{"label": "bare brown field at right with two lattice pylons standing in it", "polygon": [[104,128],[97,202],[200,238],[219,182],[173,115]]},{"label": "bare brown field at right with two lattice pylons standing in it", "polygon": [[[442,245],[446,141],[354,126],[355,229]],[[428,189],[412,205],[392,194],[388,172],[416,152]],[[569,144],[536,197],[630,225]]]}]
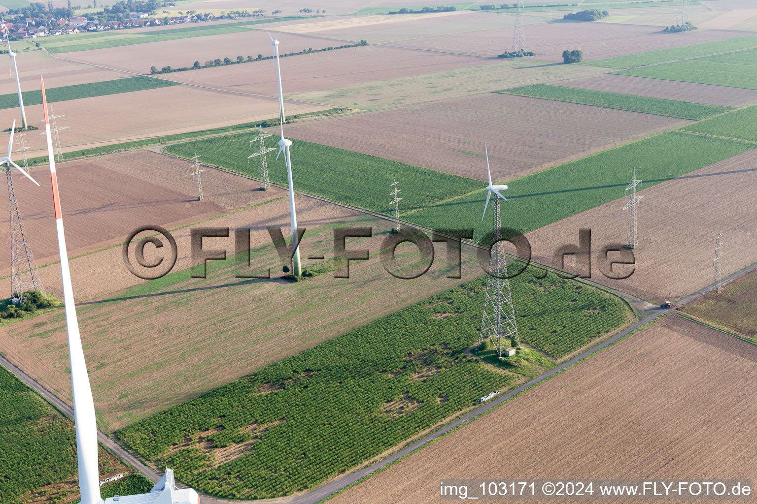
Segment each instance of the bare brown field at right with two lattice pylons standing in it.
[{"label": "bare brown field at right with two lattice pylons standing in it", "polygon": [[[628,215],[621,215],[625,197],[528,233],[534,260],[553,261],[559,244],[578,243],[578,230],[590,228],[593,280],[655,303],[683,298],[714,281],[712,258],[718,233],[724,233],[724,277],[757,261],[753,233],[757,217],[752,211],[755,162],[757,150],[749,150],[641,190],[636,267],[627,280],[606,279],[596,261],[603,246],[627,242]],[[618,195],[624,188],[618,187]],[[571,259],[565,262],[575,264]]]}]

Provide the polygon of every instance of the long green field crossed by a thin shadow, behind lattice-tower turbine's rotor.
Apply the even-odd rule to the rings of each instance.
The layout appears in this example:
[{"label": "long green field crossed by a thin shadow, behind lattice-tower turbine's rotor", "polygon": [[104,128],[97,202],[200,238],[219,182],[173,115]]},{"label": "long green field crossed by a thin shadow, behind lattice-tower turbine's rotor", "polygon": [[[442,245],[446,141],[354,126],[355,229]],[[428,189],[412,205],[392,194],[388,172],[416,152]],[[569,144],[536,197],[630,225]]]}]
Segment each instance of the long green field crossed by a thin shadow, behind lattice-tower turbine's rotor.
[{"label": "long green field crossed by a thin shadow, behind lattice-tower turbine's rotor", "polygon": [[[557,165],[507,182],[503,226],[525,233],[621,198],[634,166],[646,188],[752,148],[754,144],[746,142],[669,131]],[[485,191],[479,190],[417,212],[406,212],[401,218],[448,229],[475,224],[475,239],[481,240],[491,230],[491,209],[481,223],[485,198]]]}]

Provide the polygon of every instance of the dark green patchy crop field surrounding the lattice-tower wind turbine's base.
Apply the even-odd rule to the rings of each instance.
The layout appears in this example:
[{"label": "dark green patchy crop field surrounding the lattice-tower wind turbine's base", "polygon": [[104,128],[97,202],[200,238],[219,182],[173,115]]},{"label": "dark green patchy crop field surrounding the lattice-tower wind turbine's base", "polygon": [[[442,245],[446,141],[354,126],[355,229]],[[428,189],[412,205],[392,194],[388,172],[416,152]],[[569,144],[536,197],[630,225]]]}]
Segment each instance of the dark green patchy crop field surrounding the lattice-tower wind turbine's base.
[{"label": "dark green patchy crop field surrounding the lattice-tower wind turbine's base", "polygon": [[[464,352],[478,341],[485,286],[478,278],[435,295],[117,436],[213,495],[312,488],[519,379]],[[575,280],[526,271],[512,286],[522,339],[560,354],[628,320],[622,301]]]}]

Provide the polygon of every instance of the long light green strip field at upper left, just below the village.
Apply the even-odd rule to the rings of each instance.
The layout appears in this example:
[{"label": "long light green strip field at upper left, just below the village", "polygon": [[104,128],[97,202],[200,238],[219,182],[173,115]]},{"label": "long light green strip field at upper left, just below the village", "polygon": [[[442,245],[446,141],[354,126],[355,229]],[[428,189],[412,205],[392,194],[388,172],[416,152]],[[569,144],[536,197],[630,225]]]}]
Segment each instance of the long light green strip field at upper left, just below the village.
[{"label": "long light green strip field at upper left, just below the village", "polygon": [[[147,42],[165,42],[168,40],[190,39],[192,37],[205,37],[223,35],[224,33],[248,32],[251,26],[260,23],[273,23],[288,21],[299,17],[273,17],[269,19],[253,19],[237,23],[202,24],[201,26],[187,26],[185,28],[155,29],[152,32],[130,33],[129,30],[98,33],[73,33],[63,37],[45,37],[39,39],[39,44],[51,53],[63,53],[70,51],[89,51],[90,49],[116,48],[122,45],[145,44]],[[149,66],[149,64],[147,65]]]}]

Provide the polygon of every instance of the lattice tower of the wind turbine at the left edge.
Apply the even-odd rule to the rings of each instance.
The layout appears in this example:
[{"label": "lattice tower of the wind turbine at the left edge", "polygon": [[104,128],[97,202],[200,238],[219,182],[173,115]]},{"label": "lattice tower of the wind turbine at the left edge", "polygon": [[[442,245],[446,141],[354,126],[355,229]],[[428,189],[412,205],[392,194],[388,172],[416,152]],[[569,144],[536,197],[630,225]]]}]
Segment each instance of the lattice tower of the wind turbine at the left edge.
[{"label": "lattice tower of the wind turbine at the left edge", "polygon": [[23,303],[26,292],[30,290],[45,292],[45,290],[42,287],[42,280],[39,280],[26,230],[23,229],[10,166],[5,169],[5,178],[8,181],[8,199],[11,203],[11,298],[18,295]]}]

